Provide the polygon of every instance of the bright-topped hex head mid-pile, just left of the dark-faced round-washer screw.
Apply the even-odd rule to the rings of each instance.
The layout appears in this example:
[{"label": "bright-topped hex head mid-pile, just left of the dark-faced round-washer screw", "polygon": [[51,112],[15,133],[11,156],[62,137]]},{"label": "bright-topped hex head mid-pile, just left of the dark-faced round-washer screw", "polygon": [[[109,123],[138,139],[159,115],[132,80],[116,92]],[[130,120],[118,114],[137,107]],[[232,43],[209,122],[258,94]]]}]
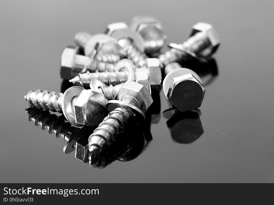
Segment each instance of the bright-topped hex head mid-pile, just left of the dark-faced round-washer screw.
[{"label": "bright-topped hex head mid-pile, just left of the dark-faced round-washer screw", "polygon": [[150,85],[161,85],[162,82],[162,72],[160,69],[160,62],[158,58],[147,58],[147,69],[149,75]]}]

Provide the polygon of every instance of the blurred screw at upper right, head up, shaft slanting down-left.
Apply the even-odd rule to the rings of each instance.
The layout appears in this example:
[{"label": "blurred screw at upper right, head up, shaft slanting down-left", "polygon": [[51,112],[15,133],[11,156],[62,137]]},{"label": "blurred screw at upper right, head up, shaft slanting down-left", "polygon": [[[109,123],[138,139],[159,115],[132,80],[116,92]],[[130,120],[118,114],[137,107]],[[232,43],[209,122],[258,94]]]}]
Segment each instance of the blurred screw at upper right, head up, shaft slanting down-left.
[{"label": "blurred screw at upper right, head up, shaft slanting down-left", "polygon": [[217,51],[219,45],[220,38],[212,25],[196,23],[187,41],[183,44],[170,44],[172,48],[158,57],[161,68],[169,63],[187,59],[189,56],[207,58]]}]

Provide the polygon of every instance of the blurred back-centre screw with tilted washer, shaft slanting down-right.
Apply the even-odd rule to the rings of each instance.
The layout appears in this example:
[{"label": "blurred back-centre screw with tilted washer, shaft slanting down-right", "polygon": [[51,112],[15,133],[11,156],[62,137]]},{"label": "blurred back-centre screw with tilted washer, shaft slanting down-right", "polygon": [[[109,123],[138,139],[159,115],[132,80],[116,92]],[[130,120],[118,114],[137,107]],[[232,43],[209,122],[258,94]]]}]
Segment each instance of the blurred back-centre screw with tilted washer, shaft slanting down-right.
[{"label": "blurred back-centre screw with tilted washer, shaft slanting down-right", "polygon": [[132,31],[124,22],[116,22],[107,25],[107,35],[114,37],[125,51],[127,58],[137,67],[147,66],[144,53],[144,40],[138,32]]}]

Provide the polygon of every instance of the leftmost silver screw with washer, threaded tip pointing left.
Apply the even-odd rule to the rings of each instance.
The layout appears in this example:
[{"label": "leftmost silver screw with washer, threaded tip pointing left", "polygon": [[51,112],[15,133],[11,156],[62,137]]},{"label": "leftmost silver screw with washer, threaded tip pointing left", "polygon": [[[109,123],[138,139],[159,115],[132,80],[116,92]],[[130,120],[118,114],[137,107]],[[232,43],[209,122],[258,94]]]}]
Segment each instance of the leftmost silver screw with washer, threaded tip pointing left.
[{"label": "leftmost silver screw with washer, threaded tip pointing left", "polygon": [[79,86],[70,87],[64,94],[31,90],[24,97],[29,106],[63,113],[71,124],[78,127],[99,124],[105,115],[106,99],[102,93]]}]

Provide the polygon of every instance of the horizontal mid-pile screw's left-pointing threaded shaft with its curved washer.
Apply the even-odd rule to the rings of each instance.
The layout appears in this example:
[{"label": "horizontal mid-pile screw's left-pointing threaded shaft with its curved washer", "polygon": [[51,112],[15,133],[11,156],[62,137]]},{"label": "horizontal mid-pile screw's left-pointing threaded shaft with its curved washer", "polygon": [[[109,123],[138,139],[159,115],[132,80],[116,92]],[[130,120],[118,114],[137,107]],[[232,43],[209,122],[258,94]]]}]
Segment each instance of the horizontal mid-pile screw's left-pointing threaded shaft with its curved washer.
[{"label": "horizontal mid-pile screw's left-pointing threaded shaft with its curved washer", "polygon": [[[78,76],[69,80],[72,83],[81,85],[89,84],[92,80],[99,80],[108,85],[117,85],[125,81],[135,80],[135,65],[128,59],[122,59],[114,67],[115,72],[94,72],[79,73]],[[125,71],[121,71],[125,70]]]}]

